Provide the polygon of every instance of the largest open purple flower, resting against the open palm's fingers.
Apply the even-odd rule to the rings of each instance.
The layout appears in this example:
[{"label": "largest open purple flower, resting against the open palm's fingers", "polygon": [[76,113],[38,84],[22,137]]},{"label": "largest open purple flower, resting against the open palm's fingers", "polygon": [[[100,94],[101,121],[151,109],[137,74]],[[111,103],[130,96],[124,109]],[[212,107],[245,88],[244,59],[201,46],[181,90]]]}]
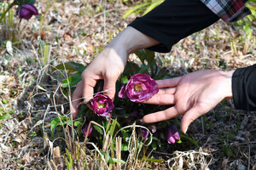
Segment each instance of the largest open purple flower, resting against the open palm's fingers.
[{"label": "largest open purple flower, resting against the open palm's fingers", "polygon": [[159,91],[158,84],[148,75],[138,73],[122,86],[119,98],[128,97],[133,102],[143,102]]}]

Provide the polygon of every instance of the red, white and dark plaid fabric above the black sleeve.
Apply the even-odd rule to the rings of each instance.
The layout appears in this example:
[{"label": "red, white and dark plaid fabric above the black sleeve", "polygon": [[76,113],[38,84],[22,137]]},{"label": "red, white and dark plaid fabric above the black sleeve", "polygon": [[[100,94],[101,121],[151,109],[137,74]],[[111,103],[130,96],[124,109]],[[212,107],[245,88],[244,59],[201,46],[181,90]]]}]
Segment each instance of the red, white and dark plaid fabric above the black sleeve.
[{"label": "red, white and dark plaid fabric above the black sleeve", "polygon": [[251,14],[251,11],[244,5],[247,0],[201,0],[201,2],[227,22],[240,20],[247,14]]}]

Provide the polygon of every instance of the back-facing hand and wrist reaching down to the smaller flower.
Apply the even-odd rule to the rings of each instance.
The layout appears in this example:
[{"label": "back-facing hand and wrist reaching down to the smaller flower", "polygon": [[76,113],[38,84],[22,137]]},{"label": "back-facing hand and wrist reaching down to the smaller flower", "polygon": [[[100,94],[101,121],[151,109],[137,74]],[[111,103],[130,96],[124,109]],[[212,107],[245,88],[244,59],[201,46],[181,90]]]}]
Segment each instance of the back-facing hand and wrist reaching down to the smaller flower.
[{"label": "back-facing hand and wrist reaching down to the smaller flower", "polygon": [[103,94],[111,99],[115,94],[115,82],[124,71],[128,55],[141,48],[151,47],[159,42],[132,27],[119,33],[82,73],[82,81],[73,92],[72,116],[78,116],[79,103],[93,98],[98,80],[104,80]]}]

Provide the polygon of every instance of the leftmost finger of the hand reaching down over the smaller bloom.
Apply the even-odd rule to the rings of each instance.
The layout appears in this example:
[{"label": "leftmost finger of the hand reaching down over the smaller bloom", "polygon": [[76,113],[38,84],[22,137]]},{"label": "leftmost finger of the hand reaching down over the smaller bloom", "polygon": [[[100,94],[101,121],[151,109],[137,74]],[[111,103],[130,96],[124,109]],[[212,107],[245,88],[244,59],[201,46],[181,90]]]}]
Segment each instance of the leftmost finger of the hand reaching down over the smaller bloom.
[{"label": "leftmost finger of the hand reaching down over the smaller bloom", "polygon": [[83,101],[82,98],[82,91],[83,91],[83,82],[79,82],[77,84],[76,89],[73,91],[73,97],[72,97],[72,111],[71,115],[75,119],[79,114],[79,103]]}]

